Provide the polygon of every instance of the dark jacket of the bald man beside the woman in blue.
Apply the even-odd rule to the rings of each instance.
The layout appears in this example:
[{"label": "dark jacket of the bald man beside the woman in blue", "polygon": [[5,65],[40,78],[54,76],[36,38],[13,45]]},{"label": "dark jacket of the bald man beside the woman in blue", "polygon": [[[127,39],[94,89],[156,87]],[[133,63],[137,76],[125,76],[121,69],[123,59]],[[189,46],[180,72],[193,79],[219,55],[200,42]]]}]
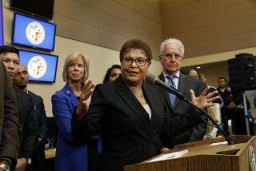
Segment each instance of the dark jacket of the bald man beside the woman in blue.
[{"label": "dark jacket of the bald man beside the woman in blue", "polygon": [[34,115],[36,121],[38,122],[38,135],[39,138],[42,139],[41,141],[38,141],[38,153],[36,153],[35,160],[44,161],[46,159],[44,142],[46,141],[48,129],[45,105],[43,104],[42,97],[31,91],[27,91],[27,93],[30,94],[30,97],[34,103]]}]

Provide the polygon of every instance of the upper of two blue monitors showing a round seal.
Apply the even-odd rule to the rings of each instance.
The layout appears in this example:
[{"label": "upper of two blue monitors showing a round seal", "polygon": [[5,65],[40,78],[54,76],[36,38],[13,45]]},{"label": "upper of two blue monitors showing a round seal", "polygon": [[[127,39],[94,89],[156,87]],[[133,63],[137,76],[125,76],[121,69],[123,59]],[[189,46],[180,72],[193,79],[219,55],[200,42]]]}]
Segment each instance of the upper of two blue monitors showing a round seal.
[{"label": "upper of two blue monitors showing a round seal", "polygon": [[14,13],[12,43],[41,50],[54,50],[56,25]]}]

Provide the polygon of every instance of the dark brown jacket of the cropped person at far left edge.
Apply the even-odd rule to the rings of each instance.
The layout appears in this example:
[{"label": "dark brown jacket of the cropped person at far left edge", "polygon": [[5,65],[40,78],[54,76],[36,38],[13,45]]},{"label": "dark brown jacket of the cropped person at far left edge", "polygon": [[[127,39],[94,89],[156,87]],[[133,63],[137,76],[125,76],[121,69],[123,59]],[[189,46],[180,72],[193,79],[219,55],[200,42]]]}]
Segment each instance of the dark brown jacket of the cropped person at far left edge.
[{"label": "dark brown jacket of the cropped person at far left edge", "polygon": [[16,165],[18,157],[18,109],[13,86],[5,66],[0,63],[0,159],[8,157],[12,167]]}]

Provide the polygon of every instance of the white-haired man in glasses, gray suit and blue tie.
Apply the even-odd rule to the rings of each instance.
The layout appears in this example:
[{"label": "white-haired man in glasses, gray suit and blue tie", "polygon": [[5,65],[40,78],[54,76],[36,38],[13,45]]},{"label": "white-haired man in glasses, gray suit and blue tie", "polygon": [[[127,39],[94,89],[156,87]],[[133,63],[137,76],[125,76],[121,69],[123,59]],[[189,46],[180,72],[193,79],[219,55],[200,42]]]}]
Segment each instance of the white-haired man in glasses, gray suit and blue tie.
[{"label": "white-haired man in glasses, gray suit and blue tie", "polygon": [[[190,89],[194,90],[198,97],[204,86],[202,82],[190,78],[180,73],[180,66],[184,57],[184,46],[182,42],[176,38],[170,38],[162,42],[160,47],[159,61],[162,64],[162,74],[159,78],[168,85],[174,86],[190,100]],[[164,101],[168,104],[167,117],[173,118],[178,114],[191,114],[194,110],[185,101],[181,101],[178,97],[166,92],[165,89],[158,87],[162,93]],[[206,117],[202,117],[202,122],[191,129],[187,129],[176,137],[162,136],[162,143],[166,147],[172,148],[176,144],[186,143],[189,141],[200,141],[206,133]]]}]

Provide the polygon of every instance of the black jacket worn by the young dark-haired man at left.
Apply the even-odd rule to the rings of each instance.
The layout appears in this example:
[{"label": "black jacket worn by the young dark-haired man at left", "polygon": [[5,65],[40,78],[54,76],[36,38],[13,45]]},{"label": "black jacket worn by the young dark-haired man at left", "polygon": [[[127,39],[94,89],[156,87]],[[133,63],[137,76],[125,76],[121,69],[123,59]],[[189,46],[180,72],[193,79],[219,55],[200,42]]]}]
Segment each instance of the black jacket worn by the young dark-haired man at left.
[{"label": "black jacket worn by the young dark-haired man at left", "polygon": [[22,92],[15,86],[14,92],[18,104],[19,123],[22,127],[19,158],[32,158],[38,147],[38,123],[34,117],[33,102],[29,94]]}]

